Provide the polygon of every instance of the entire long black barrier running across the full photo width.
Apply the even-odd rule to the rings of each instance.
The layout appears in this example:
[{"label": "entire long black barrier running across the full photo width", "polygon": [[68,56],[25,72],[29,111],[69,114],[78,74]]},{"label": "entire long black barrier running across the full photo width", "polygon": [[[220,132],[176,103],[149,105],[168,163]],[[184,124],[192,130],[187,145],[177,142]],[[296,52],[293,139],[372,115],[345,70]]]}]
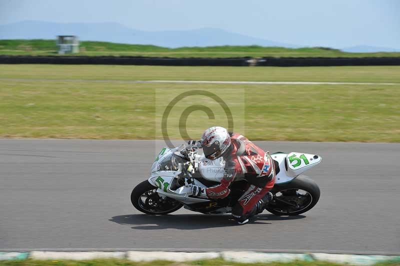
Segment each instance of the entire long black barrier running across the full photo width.
[{"label": "entire long black barrier running across the full photo width", "polygon": [[47,64],[122,64],[175,66],[339,66],[339,65],[400,65],[400,57],[234,57],[234,58],[172,58],[141,56],[22,56],[0,55],[0,63]]}]

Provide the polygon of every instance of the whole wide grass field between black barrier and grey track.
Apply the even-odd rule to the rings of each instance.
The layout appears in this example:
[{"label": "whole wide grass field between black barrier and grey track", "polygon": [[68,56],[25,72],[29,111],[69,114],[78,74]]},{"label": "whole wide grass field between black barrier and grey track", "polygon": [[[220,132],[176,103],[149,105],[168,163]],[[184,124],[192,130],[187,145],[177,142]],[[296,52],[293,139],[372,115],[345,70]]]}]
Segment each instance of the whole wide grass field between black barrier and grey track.
[{"label": "whole wide grass field between black barrier and grey track", "polygon": [[[204,89],[227,95],[232,112],[244,107],[235,122],[250,139],[400,142],[398,84],[160,84],[136,79],[400,83],[400,67],[0,65],[0,137],[160,139],[162,110],[156,104],[180,91]],[[182,110],[196,103],[218,112],[215,103],[201,97],[179,102],[168,118],[172,138],[179,139]],[[215,120],[192,112],[188,134],[198,137],[207,126],[224,125],[220,112]]]}]

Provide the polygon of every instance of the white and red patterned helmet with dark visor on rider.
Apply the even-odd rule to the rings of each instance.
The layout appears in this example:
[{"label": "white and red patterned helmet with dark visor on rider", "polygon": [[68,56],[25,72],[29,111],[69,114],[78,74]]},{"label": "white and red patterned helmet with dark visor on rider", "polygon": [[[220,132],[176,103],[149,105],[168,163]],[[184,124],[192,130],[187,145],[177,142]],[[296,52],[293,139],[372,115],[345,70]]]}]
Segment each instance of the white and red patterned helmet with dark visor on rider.
[{"label": "white and red patterned helmet with dark visor on rider", "polygon": [[228,131],[220,126],[213,126],[204,131],[200,139],[204,156],[214,160],[222,156],[230,146],[230,136]]}]

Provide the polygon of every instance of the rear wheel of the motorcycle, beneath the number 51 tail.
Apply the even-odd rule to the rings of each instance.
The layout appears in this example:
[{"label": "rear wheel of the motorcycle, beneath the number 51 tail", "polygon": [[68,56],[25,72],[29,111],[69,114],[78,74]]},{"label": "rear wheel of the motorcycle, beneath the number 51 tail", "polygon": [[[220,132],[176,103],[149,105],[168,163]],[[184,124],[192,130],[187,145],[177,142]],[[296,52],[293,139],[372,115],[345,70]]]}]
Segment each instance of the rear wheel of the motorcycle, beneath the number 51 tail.
[{"label": "rear wheel of the motorcycle, beneath the number 51 tail", "polygon": [[273,198],[265,208],[275,215],[298,215],[310,210],[318,202],[318,185],[299,175],[285,184],[277,184],[271,190]]}]

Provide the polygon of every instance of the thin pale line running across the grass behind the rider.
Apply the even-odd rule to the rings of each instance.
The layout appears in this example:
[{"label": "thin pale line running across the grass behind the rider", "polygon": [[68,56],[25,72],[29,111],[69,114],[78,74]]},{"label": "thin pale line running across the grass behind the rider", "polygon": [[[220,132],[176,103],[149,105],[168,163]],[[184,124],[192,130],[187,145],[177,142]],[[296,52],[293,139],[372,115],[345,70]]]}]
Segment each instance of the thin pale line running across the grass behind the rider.
[{"label": "thin pale line running across the grass behind the rider", "polygon": [[43,79],[43,78],[0,78],[4,81],[54,81],[94,83],[183,83],[183,84],[270,84],[270,85],[400,85],[393,82],[329,82],[329,81],[221,81],[221,80],[113,80],[113,79]]}]

